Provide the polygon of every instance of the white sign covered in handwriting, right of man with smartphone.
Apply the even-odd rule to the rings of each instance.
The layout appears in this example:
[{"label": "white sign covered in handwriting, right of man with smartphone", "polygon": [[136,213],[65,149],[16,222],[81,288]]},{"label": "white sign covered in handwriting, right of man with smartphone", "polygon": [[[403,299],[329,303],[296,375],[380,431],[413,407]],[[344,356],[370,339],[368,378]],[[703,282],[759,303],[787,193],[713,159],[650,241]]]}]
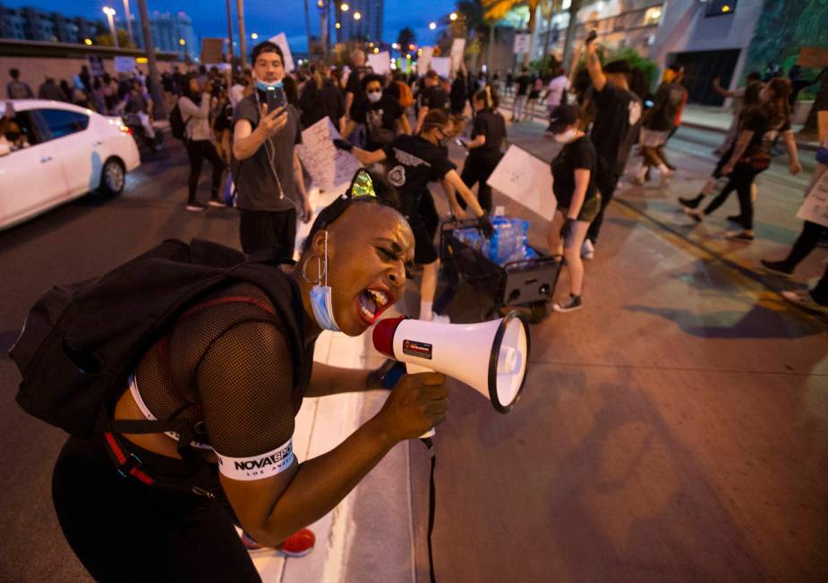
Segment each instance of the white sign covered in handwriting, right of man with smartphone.
[{"label": "white sign covered in handwriting, right of man with smartphone", "polygon": [[296,147],[299,159],[321,190],[350,183],[354,173],[362,168],[353,154],[334,147],[333,140],[337,138],[339,132],[325,117],[302,132],[302,143]]}]

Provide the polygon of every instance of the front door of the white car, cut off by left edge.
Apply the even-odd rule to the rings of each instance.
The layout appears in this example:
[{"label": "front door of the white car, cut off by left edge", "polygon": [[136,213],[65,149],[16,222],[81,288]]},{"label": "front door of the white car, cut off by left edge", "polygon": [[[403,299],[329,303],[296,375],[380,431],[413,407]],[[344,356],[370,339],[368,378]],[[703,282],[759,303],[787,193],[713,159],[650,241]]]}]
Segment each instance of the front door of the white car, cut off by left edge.
[{"label": "front door of the white car, cut off by left edge", "polygon": [[26,147],[0,156],[0,227],[36,215],[66,193],[54,144],[38,131],[30,112],[14,117]]}]

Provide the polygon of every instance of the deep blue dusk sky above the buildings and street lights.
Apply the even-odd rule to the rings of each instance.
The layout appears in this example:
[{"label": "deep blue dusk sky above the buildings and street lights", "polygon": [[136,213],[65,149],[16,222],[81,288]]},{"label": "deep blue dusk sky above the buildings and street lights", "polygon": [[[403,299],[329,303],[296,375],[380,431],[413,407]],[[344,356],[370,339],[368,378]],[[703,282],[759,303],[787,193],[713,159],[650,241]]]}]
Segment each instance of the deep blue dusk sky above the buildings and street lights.
[{"label": "deep blue dusk sky above the buildings and street lights", "polygon": [[[67,16],[84,16],[103,20],[106,17],[101,9],[110,5],[115,8],[117,16],[124,13],[123,0],[0,0],[0,4],[9,7],[33,6],[47,11],[64,13]],[[236,0],[232,0],[234,34],[238,34],[235,21]],[[319,31],[319,10],[315,0],[308,0],[311,13],[312,34]],[[227,19],[225,0],[147,0],[149,12],[184,12],[192,18],[196,37],[226,37]],[[418,44],[430,45],[436,40],[435,31],[429,30],[429,22],[435,21],[454,10],[454,0],[428,0],[412,2],[411,0],[386,0],[383,14],[385,30],[383,40],[394,42],[397,32],[408,26],[414,30]],[[130,11],[138,14],[138,3],[130,0]],[[304,0],[245,0],[244,22],[247,34],[259,34],[260,38],[269,38],[279,32],[285,32],[288,42],[297,51],[305,51],[307,37],[304,25]],[[331,27],[331,30],[333,28]],[[249,37],[248,37],[249,40]]]}]

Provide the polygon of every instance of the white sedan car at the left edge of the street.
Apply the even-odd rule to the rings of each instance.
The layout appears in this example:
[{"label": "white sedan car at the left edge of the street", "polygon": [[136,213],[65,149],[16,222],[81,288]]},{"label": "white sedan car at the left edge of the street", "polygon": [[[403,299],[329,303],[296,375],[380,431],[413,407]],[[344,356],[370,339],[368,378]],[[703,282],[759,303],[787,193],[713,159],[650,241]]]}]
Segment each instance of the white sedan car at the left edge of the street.
[{"label": "white sedan car at the left edge of the street", "polygon": [[[11,103],[12,123],[3,120]],[[141,165],[131,132],[118,117],[59,101],[0,101],[0,229],[21,223],[90,190],[116,196]]]}]

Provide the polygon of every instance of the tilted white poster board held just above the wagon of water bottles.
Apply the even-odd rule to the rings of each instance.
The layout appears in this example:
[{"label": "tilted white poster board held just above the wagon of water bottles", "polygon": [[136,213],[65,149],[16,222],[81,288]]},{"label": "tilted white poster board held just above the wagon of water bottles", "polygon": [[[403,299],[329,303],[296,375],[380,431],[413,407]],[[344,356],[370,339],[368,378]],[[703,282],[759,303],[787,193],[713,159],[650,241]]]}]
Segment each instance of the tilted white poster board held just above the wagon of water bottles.
[{"label": "tilted white poster board held just above the wagon of water bottles", "polygon": [[509,146],[486,184],[548,221],[555,215],[550,167],[524,149]]}]

